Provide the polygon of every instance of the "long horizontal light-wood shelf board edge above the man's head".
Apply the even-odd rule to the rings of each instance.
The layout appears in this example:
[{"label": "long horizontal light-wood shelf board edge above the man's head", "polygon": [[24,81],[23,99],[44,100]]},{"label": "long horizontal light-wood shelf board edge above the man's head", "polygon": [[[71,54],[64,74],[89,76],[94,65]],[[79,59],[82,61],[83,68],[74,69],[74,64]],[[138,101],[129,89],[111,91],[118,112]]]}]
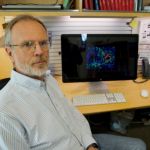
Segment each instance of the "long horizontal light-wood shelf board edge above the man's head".
[{"label": "long horizontal light-wood shelf board edge above the man's head", "polygon": [[0,10],[0,16],[150,17],[150,12],[98,12],[79,10]]}]

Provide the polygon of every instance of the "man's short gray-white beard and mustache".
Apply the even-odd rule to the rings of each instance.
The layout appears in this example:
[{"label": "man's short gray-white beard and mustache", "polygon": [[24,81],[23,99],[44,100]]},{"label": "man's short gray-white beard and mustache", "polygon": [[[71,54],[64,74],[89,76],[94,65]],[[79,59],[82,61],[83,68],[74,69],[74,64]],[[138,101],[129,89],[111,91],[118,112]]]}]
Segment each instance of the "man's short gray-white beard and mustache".
[{"label": "man's short gray-white beard and mustache", "polygon": [[[40,67],[34,67],[34,63],[44,61],[45,63]],[[30,77],[42,77],[48,70],[48,58],[36,58],[28,63],[15,62],[16,70]]]}]

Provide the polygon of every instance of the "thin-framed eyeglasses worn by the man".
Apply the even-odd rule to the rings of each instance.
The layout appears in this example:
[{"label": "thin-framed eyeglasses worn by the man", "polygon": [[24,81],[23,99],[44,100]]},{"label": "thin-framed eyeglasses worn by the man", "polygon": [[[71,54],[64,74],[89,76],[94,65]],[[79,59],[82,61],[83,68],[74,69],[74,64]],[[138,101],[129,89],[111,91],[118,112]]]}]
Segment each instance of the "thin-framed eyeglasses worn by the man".
[{"label": "thin-framed eyeglasses worn by the man", "polygon": [[[38,44],[42,50],[48,50],[50,43],[48,40],[38,41]],[[10,44],[10,47],[19,46],[21,49],[26,51],[35,51],[36,50],[36,41],[25,41],[21,44]]]}]

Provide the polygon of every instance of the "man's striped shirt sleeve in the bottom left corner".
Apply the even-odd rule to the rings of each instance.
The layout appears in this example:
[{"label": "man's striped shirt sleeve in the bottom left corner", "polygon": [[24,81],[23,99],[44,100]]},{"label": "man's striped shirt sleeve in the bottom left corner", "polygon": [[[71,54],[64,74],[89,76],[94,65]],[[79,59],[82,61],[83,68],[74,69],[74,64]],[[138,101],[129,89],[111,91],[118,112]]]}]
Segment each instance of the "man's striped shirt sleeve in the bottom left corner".
[{"label": "man's striped shirt sleeve in the bottom left corner", "polygon": [[29,150],[24,128],[14,118],[0,113],[0,149]]}]

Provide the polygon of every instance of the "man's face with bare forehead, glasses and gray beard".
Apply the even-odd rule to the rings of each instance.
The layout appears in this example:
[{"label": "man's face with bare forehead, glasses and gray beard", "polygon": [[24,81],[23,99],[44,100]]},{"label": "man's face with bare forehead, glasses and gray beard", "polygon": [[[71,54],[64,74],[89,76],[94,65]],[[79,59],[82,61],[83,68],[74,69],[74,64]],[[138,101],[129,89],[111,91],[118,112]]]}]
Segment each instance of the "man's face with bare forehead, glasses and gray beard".
[{"label": "man's face with bare forehead, glasses and gray beard", "polygon": [[[48,39],[45,29],[36,21],[20,21],[12,28],[11,60],[16,71],[30,77],[41,77],[48,69],[48,46],[42,47]],[[34,48],[28,49],[24,44],[31,41]],[[24,45],[24,46],[23,46]]]}]

